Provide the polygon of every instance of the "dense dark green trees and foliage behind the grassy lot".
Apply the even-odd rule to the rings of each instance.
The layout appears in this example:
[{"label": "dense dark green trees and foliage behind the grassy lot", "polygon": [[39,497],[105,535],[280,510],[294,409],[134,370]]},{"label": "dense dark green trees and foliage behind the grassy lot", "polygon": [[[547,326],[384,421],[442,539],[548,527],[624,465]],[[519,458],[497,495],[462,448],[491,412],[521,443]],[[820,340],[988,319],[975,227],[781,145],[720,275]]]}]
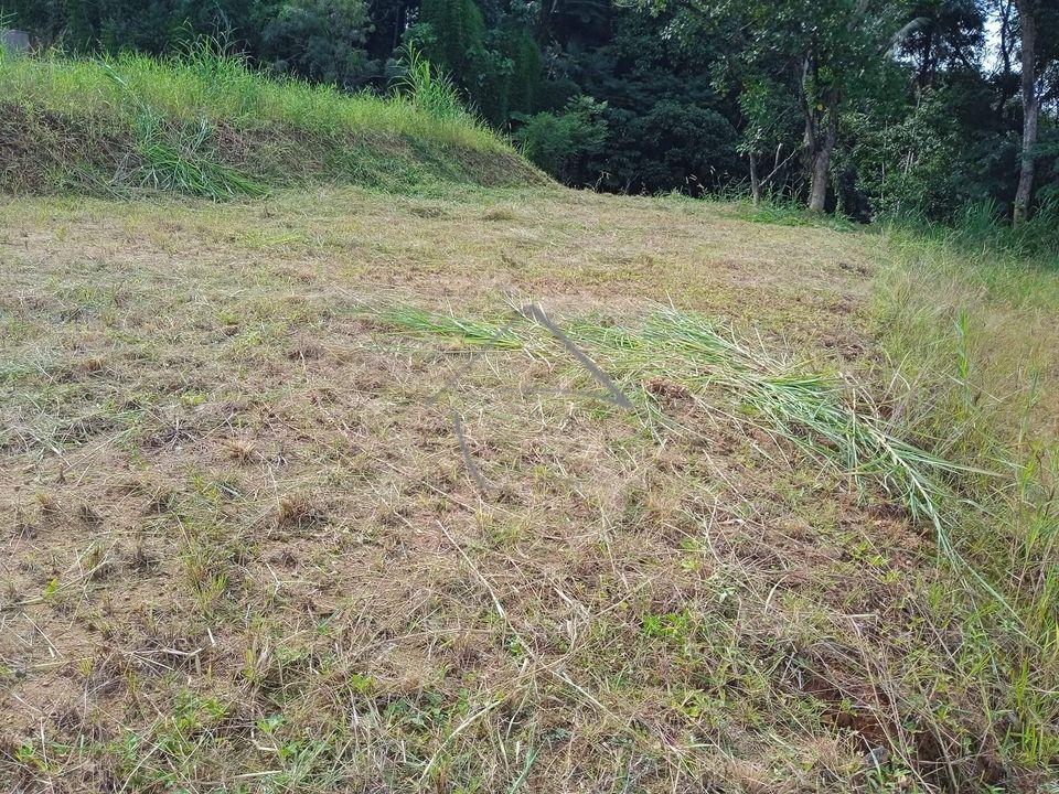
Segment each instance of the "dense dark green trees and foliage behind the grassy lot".
[{"label": "dense dark green trees and foliage behind the grassy lot", "polygon": [[862,218],[951,219],[975,203],[1009,214],[1027,178],[1029,207],[1059,201],[1059,0],[0,0],[0,9],[42,45],[162,53],[210,35],[258,66],[346,89],[387,89],[411,47],[483,119],[576,185],[693,194],[749,185],[756,198]]}]

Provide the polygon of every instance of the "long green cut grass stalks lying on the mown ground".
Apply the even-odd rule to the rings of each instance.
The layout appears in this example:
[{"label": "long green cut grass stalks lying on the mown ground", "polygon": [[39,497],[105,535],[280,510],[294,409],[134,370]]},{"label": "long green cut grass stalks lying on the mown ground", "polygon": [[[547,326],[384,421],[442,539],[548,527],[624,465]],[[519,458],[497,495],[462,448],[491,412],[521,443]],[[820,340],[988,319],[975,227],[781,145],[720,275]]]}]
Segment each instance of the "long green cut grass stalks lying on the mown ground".
[{"label": "long green cut grass stalks lying on the mown ground", "polygon": [[[555,340],[532,324],[489,323],[408,308],[373,315],[385,325],[421,336],[525,350],[537,356],[556,352]],[[666,383],[682,391],[720,396],[735,418],[834,466],[856,490],[877,486],[913,519],[929,524],[941,551],[959,562],[943,515],[952,496],[945,482],[962,473],[987,472],[950,462],[900,438],[867,395],[848,394],[839,378],[803,372],[752,348],[723,324],[675,309],[657,311],[640,326],[581,321],[565,333],[575,345],[584,344],[600,356],[625,388],[646,397],[641,403],[655,420],[662,417],[654,410],[651,391],[666,391]]]}]

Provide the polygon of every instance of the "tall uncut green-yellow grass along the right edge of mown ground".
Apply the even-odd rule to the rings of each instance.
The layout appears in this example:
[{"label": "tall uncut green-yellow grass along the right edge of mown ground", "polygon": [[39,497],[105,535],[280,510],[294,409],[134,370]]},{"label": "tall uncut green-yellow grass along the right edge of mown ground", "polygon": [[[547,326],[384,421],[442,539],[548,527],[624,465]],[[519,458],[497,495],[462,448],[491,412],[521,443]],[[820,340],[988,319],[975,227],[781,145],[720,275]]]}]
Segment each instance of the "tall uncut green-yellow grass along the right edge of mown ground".
[{"label": "tall uncut green-yellow grass along the right edge of mown ground", "polygon": [[[987,604],[964,652],[1003,682],[1005,751],[1059,763],[1059,271],[1051,207],[1017,229],[977,207],[945,234],[891,229],[876,314],[879,380],[909,438],[969,471],[961,552],[1014,615]],[[1040,224],[1040,225],[1035,225]],[[1034,257],[1026,251],[1036,251]],[[974,473],[988,470],[991,475]]]}]

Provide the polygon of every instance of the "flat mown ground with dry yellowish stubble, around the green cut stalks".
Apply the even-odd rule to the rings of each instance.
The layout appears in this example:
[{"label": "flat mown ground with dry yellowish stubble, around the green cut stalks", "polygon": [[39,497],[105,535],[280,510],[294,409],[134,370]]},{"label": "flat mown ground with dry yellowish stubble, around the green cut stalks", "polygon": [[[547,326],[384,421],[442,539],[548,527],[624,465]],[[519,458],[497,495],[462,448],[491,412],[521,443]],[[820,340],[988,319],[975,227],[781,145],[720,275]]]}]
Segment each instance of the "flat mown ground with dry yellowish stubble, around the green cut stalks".
[{"label": "flat mown ground with dry yellowish stubble, around the green cut stalks", "polygon": [[[673,302],[875,378],[874,282],[900,310],[884,350],[944,380],[951,357],[914,345],[949,339],[967,296],[1018,340],[1003,290],[938,291],[948,271],[877,236],[553,190],[20,200],[0,218],[0,775],[935,791],[1029,788],[1055,760],[1048,648],[961,596],[929,528],[723,389],[622,380],[678,425],[646,421],[570,396],[587,384],[546,347],[493,353],[432,401],[469,337],[375,312],[536,300],[606,330]],[[988,366],[996,334],[965,358]],[[923,438],[935,407],[909,421]],[[469,476],[452,408],[496,491]]]}]

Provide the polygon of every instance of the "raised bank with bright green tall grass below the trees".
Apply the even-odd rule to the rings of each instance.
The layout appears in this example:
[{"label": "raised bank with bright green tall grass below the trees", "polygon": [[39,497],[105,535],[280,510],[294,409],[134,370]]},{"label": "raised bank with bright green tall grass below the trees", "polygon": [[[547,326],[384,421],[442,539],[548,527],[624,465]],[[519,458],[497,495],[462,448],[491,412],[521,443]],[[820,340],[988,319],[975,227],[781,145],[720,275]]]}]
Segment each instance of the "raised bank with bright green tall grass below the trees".
[{"label": "raised bank with bright green tall grass below the trees", "polygon": [[458,103],[272,78],[203,44],[183,57],[0,54],[0,190],[223,200],[318,183],[429,191],[543,183]]}]

